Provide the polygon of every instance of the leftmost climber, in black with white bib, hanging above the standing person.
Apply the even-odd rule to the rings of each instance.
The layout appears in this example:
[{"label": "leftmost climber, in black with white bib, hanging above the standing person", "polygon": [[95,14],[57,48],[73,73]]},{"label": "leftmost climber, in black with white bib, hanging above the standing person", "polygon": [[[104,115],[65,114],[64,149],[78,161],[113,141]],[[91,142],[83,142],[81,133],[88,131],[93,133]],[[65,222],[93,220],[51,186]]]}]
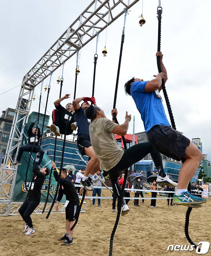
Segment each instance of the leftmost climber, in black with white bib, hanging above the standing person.
[{"label": "leftmost climber, in black with white bib, hanging above the standing person", "polygon": [[[34,120],[34,122],[30,125],[29,130],[28,130],[28,144],[21,146],[18,152],[18,156],[17,156],[17,160],[15,163],[12,163],[12,165],[21,165],[21,157],[23,155],[23,152],[31,152],[31,149],[34,145],[34,140],[35,140],[35,145],[33,148],[33,153],[38,153],[39,150],[39,139],[41,137],[41,133],[40,133],[40,128],[39,128],[39,124],[37,124],[37,128],[33,126],[35,125],[35,123],[38,121],[38,118]],[[36,134],[35,134],[36,133]],[[45,153],[45,151],[40,148],[40,158],[38,161],[38,164],[41,164],[42,159],[43,159],[43,155]]]}]

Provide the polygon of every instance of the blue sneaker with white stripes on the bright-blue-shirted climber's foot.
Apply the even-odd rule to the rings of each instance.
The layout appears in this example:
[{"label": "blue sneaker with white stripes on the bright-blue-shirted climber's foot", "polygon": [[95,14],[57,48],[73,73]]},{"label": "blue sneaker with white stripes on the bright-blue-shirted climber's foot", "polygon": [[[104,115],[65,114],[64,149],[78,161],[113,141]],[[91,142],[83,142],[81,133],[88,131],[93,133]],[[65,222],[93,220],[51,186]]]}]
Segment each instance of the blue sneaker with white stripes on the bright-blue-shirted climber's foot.
[{"label": "blue sneaker with white stripes on the bright-blue-shirted climber's foot", "polygon": [[[207,199],[193,196],[188,191],[182,192],[180,196],[177,196],[176,194],[174,194],[174,197],[173,197],[174,204],[184,205],[187,207],[194,207],[194,205],[199,207],[198,204],[204,204],[206,202],[207,202]],[[197,208],[197,207],[194,207],[194,208]]]}]

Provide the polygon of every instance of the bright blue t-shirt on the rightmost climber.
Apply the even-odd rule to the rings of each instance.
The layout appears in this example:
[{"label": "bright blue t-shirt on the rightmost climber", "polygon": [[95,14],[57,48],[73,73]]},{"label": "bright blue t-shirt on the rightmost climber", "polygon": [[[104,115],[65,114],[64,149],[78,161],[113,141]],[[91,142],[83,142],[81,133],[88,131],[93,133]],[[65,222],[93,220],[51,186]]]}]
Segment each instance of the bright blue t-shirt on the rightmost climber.
[{"label": "bright blue t-shirt on the rightmost climber", "polygon": [[147,82],[137,81],[131,85],[131,96],[141,114],[146,133],[157,124],[170,126],[161,99],[155,92],[145,92]]}]

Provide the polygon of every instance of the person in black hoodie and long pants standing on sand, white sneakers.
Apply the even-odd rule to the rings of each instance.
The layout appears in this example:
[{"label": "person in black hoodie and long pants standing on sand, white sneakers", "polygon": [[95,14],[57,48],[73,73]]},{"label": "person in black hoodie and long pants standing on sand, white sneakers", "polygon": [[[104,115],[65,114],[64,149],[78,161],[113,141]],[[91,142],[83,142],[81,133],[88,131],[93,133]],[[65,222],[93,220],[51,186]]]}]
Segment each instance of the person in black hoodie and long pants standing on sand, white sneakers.
[{"label": "person in black hoodie and long pants standing on sand, white sneakers", "polygon": [[25,221],[25,228],[23,232],[25,235],[30,235],[35,232],[30,215],[38,207],[41,199],[41,189],[46,176],[49,174],[49,168],[43,167],[41,170],[38,166],[39,153],[35,159],[32,171],[36,175],[34,178],[34,185],[32,184],[31,190],[29,191],[28,198],[23,202],[20,209],[18,210],[21,217]]}]

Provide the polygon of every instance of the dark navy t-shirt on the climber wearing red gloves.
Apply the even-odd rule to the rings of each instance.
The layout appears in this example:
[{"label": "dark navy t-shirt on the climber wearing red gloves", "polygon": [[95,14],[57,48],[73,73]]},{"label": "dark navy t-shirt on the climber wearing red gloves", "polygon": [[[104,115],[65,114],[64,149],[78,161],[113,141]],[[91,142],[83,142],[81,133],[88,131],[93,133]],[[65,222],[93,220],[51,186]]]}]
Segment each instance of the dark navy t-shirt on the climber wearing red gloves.
[{"label": "dark navy t-shirt on the climber wearing red gloves", "polygon": [[74,121],[77,122],[78,125],[78,135],[84,134],[89,136],[89,122],[87,117],[84,115],[84,109],[80,107],[80,109],[75,110]]}]

